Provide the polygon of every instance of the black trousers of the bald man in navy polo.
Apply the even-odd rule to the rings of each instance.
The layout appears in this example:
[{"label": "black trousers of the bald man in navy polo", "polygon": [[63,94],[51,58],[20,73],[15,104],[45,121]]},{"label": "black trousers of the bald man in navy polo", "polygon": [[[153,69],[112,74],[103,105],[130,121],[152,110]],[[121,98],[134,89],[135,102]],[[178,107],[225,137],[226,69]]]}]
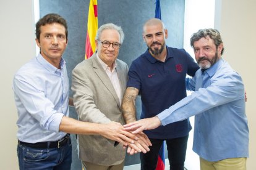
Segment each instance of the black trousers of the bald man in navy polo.
[{"label": "black trousers of the bald man in navy polo", "polygon": [[[171,170],[184,170],[186,158],[187,139],[189,136],[166,139],[168,150],[168,159]],[[164,139],[150,139],[152,146],[150,152],[140,153],[140,162],[142,170],[155,170],[158,160],[158,153]]]}]

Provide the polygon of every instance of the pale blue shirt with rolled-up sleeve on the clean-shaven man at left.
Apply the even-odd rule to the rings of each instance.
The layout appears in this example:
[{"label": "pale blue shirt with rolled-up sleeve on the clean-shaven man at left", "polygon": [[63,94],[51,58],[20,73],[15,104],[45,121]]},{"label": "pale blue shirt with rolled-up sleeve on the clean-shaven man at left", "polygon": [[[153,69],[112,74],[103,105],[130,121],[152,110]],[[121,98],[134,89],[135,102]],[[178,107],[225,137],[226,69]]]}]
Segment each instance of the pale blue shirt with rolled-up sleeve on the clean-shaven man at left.
[{"label": "pale blue shirt with rolled-up sleeve on the clean-shaven man at left", "polygon": [[17,71],[12,89],[20,141],[56,141],[66,135],[59,132],[62,117],[69,115],[69,78],[63,59],[58,69],[38,54]]}]

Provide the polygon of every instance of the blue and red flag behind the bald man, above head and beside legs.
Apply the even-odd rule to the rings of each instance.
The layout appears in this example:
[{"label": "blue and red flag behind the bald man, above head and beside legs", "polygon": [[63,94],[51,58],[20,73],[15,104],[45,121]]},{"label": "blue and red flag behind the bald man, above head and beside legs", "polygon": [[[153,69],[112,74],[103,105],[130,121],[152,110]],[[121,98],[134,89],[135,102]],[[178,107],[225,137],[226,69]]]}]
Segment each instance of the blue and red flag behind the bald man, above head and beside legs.
[{"label": "blue and red flag behind the bald man, above head and beside legs", "polygon": [[[161,7],[160,0],[156,0],[156,9],[155,9],[155,18],[161,20]],[[158,153],[158,161],[156,165],[156,170],[164,170],[165,169],[165,158],[164,158],[164,142],[161,145],[160,151]]]}]

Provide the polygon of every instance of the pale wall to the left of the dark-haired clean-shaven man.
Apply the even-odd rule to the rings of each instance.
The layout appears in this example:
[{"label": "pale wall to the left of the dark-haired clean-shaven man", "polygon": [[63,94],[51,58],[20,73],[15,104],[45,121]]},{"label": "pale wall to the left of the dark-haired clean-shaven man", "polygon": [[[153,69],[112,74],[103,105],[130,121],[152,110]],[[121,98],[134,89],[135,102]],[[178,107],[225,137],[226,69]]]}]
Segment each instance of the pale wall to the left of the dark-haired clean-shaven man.
[{"label": "pale wall to the left of the dark-haired clean-shaven man", "polygon": [[0,169],[19,169],[17,111],[12,92],[15,71],[35,56],[33,1],[0,1],[1,154]]}]

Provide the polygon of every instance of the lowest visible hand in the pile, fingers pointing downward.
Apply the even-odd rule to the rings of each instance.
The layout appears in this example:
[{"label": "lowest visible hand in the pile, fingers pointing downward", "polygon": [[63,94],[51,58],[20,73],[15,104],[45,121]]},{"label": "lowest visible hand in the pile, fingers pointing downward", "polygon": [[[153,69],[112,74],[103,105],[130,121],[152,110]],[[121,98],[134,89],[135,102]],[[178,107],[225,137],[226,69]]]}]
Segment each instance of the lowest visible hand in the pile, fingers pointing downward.
[{"label": "lowest visible hand in the pile, fingers pointing downward", "polygon": [[[148,147],[152,146],[152,144],[151,144],[150,140],[148,139],[147,135],[144,134],[143,132],[140,132],[139,134],[136,134],[136,136],[139,139],[135,140],[135,143],[132,145],[139,147],[143,153],[150,151],[150,149]],[[130,155],[134,155],[134,153],[137,153],[137,151],[134,148],[129,146],[127,148],[127,153],[129,153]]]}]

